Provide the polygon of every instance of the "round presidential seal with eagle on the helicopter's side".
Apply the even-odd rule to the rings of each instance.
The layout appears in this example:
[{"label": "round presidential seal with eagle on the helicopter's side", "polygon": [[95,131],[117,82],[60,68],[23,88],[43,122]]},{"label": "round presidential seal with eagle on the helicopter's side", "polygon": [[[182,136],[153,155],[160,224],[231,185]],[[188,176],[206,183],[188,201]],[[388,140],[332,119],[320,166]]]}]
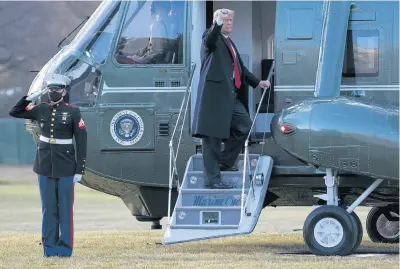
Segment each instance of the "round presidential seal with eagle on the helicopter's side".
[{"label": "round presidential seal with eagle on the helicopter's side", "polygon": [[142,138],[143,132],[142,118],[131,110],[122,110],[111,119],[110,133],[118,144],[132,146]]}]

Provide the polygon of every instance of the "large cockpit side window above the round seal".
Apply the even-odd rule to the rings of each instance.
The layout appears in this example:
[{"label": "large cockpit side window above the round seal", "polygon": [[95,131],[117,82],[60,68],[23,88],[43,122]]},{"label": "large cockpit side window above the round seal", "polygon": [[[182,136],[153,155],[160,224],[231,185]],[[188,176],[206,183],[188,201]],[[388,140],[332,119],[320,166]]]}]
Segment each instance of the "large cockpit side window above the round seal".
[{"label": "large cockpit side window above the round seal", "polygon": [[183,64],[184,29],[185,1],[130,2],[116,60],[121,64]]}]

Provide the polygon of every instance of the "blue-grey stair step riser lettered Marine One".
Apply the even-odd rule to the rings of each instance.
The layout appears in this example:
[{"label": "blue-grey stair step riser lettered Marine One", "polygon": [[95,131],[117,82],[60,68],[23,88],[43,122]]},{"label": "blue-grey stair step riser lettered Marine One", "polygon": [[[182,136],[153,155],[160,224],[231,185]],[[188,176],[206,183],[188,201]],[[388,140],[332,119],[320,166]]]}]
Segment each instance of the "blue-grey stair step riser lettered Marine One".
[{"label": "blue-grey stair step riser lettered Marine One", "polygon": [[[244,190],[244,198],[247,198],[249,189]],[[181,200],[178,207],[234,207],[241,205],[242,190],[217,190],[217,189],[182,189],[180,192]],[[179,202],[179,201],[178,201]]]}]

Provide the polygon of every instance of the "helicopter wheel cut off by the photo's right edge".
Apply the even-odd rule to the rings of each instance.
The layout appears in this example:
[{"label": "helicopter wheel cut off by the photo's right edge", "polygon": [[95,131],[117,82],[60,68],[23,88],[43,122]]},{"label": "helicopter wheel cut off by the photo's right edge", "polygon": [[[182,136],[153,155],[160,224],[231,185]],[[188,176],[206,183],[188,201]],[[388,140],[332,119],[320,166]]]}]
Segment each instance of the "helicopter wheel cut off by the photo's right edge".
[{"label": "helicopter wheel cut off by the photo's right edge", "polygon": [[[397,211],[397,212],[396,212]],[[399,210],[373,207],[366,221],[369,238],[375,243],[399,243]]]}]

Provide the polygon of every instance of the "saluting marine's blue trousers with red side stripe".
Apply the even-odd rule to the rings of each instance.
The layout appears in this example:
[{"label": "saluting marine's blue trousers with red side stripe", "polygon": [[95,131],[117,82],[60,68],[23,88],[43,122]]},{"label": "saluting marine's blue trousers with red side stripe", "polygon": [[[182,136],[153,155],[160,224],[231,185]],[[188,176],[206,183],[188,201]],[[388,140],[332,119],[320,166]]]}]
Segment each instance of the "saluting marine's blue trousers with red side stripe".
[{"label": "saluting marine's blue trousers with red side stripe", "polygon": [[73,178],[39,176],[44,256],[72,255],[74,237]]}]

